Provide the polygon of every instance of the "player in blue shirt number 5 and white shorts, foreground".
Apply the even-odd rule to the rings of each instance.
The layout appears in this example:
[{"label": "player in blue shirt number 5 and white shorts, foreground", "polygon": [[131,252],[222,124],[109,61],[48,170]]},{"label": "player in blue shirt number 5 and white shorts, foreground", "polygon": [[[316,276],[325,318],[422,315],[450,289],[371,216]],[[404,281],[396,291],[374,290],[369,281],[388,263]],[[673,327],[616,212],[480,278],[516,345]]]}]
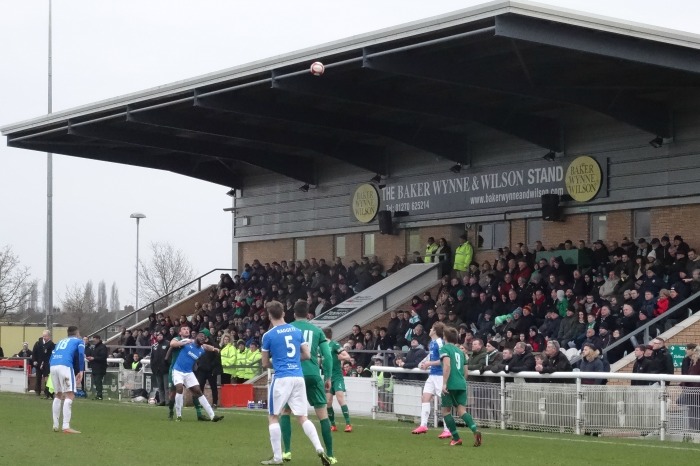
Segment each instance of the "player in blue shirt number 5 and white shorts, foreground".
[{"label": "player in blue shirt number 5 and white shorts, foreground", "polygon": [[262,338],[262,365],[275,370],[267,403],[273,456],[272,459],[261,463],[284,464],[279,416],[284,406],[288,405],[311,440],[318,457],[321,458],[321,464],[330,466],[330,459],[323,451],[316,426],[307,417],[306,385],[301,361],[311,357],[309,344],[304,341],[301,330],[285,323],[282,303],[270,301],[266,308],[272,328]]}]

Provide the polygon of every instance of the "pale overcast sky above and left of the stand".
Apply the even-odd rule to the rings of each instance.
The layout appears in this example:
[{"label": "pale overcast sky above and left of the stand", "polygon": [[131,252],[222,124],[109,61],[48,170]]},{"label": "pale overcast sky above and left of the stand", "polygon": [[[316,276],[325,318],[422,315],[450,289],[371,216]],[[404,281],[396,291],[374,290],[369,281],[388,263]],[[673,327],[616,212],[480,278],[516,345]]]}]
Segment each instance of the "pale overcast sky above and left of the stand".
[{"label": "pale overcast sky above and left of the stand", "polygon": [[[485,3],[473,0],[54,0],[53,110]],[[549,5],[698,32],[696,0],[550,0]],[[48,0],[0,0],[0,126],[47,113]],[[134,303],[136,226],[195,271],[231,266],[224,186],[169,172],[53,157],[54,303],[104,280]],[[0,141],[0,248],[46,276],[46,155]],[[214,278],[212,278],[214,281]],[[143,304],[143,303],[142,303]]]}]

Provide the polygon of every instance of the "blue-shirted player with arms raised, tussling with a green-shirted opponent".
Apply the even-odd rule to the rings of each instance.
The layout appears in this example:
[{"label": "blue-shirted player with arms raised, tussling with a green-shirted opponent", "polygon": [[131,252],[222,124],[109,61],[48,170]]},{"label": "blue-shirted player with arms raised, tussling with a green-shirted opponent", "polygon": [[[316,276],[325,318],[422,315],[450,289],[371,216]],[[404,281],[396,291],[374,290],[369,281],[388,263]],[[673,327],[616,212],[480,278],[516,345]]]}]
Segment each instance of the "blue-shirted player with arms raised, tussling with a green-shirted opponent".
[{"label": "blue-shirted player with arms raised, tussling with a green-shirted opponent", "polygon": [[197,359],[204,354],[205,351],[215,351],[219,352],[219,348],[204,343],[206,339],[203,333],[197,334],[197,338],[192,340],[190,338],[184,338],[182,340],[177,340],[173,338],[170,340],[170,346],[172,348],[180,348],[180,352],[177,355],[175,364],[173,364],[173,384],[175,385],[175,414],[177,417],[176,421],[182,420],[182,405],[184,404],[184,387],[187,387],[192,393],[192,398],[196,398],[202,405],[204,410],[209,415],[209,419],[212,422],[218,422],[222,420],[223,416],[217,416],[214,414],[209,401],[202,393],[202,389],[199,387],[199,381],[194,375],[194,363]]}]

